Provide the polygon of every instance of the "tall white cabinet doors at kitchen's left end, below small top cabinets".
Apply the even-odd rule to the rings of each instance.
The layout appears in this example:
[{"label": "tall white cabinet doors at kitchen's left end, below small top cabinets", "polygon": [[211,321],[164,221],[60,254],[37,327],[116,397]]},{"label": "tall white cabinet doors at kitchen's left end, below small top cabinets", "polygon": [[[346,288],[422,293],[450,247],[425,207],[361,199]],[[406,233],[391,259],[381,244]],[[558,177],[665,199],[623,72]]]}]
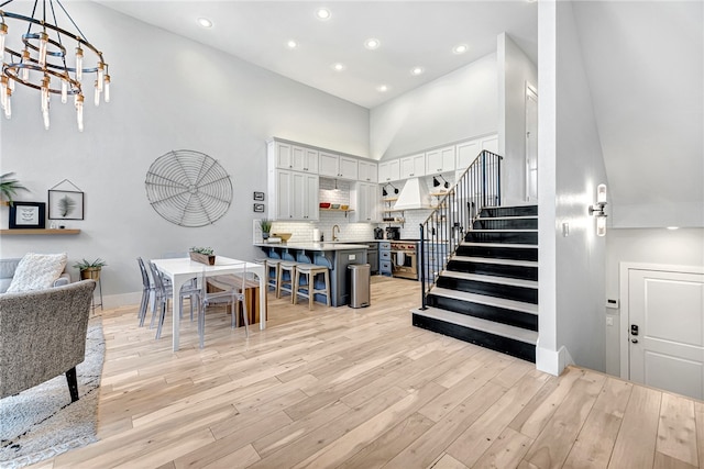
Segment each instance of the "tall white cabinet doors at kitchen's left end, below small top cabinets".
[{"label": "tall white cabinet doors at kitchen's left end, below small top cabinets", "polygon": [[318,176],[285,169],[275,171],[275,183],[270,185],[270,197],[274,201],[270,217],[280,221],[318,220]]}]

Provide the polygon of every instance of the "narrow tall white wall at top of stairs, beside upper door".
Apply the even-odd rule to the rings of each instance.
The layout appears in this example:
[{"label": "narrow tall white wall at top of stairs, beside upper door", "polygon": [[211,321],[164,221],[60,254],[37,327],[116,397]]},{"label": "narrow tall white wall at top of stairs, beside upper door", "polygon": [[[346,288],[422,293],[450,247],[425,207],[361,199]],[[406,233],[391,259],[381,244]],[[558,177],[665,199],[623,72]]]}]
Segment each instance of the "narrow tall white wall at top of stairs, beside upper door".
[{"label": "narrow tall white wall at top of stairs, beside upper door", "polygon": [[526,85],[538,86],[538,69],[506,33],[498,35],[498,153],[504,157],[504,204],[526,200]]}]

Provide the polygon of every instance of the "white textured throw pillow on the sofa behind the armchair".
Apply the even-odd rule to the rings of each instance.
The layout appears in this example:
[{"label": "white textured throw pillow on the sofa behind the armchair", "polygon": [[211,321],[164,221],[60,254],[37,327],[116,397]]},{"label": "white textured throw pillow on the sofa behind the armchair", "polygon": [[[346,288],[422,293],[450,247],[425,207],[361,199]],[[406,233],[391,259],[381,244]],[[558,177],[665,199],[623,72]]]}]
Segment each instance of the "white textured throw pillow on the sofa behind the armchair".
[{"label": "white textured throw pillow on the sofa behind the armchair", "polygon": [[54,287],[54,282],[66,268],[68,256],[63,254],[24,255],[12,277],[8,293],[31,290],[44,290]]}]

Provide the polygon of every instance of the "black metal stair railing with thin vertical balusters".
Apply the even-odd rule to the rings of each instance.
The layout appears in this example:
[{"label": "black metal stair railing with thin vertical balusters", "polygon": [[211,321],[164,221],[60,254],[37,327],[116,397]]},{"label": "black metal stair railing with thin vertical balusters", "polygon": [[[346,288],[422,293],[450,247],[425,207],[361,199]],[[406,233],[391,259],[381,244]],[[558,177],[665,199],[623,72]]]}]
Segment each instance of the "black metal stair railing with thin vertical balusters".
[{"label": "black metal stair railing with thin vertical balusters", "polygon": [[[457,182],[438,199],[438,206],[420,224],[420,291],[421,309],[427,309],[428,292],[457,252],[472,223],[486,206],[502,202],[501,160],[486,149],[462,172]],[[432,257],[428,256],[432,254]],[[427,278],[430,277],[430,278]]]}]

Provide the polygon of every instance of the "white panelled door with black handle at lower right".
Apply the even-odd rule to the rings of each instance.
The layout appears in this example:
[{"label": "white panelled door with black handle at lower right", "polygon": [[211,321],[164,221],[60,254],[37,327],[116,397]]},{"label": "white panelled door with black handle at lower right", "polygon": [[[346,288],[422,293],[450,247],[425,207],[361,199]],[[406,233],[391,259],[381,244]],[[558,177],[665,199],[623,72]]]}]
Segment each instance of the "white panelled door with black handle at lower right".
[{"label": "white panelled door with black handle at lower right", "polygon": [[630,380],[704,399],[704,273],[628,269]]}]

